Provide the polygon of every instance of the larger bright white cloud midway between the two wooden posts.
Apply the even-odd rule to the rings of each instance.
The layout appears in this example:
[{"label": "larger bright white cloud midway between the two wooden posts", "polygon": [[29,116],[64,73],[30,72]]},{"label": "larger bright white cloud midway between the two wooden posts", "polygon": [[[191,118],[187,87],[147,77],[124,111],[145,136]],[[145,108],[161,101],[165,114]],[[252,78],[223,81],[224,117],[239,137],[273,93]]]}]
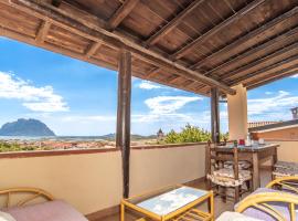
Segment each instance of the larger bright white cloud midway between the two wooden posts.
[{"label": "larger bright white cloud midway between the two wooden posts", "polygon": [[202,97],[189,96],[157,96],[148,98],[145,104],[150,108],[151,114],[173,114],[178,109],[185,106],[188,103],[202,101]]}]

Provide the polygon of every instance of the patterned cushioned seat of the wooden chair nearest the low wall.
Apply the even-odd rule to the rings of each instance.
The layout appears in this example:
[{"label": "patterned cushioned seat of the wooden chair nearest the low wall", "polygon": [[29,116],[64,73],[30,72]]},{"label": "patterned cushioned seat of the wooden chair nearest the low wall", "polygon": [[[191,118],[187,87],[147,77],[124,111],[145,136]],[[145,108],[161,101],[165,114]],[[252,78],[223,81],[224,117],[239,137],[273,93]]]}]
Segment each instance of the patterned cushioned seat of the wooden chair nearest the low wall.
[{"label": "patterned cushioned seat of the wooden chair nearest the low wall", "polygon": [[212,175],[207,175],[207,179],[210,179],[213,183],[223,187],[238,187],[245,181],[252,179],[252,173],[249,170],[240,170],[238,179],[236,180],[233,169],[223,168],[213,171]]}]

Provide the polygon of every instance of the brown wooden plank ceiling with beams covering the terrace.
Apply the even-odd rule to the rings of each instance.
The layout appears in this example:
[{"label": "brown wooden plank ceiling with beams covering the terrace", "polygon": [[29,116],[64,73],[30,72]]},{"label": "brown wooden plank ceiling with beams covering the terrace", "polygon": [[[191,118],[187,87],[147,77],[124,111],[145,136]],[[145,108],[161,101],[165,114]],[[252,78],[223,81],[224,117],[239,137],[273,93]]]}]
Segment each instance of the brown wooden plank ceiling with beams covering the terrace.
[{"label": "brown wooden plank ceiling with beams covering the terrace", "polygon": [[298,73],[298,0],[0,0],[0,35],[204,95]]}]

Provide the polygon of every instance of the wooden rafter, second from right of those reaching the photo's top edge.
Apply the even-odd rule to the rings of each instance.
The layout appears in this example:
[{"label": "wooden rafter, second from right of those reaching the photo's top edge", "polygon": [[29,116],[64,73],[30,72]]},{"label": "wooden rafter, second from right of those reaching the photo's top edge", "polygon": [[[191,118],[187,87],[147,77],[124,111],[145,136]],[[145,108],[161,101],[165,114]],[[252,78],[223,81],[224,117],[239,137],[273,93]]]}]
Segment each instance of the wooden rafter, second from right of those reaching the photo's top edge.
[{"label": "wooden rafter, second from right of those reaching the photo's top edge", "polygon": [[177,25],[179,25],[194,9],[196,9],[205,0],[194,0],[189,4],[184,10],[182,10],[178,15],[175,15],[169,23],[162,27],[159,31],[152,34],[147,41],[146,44],[151,46],[156,44],[160,39],[167,35],[172,31]]}]

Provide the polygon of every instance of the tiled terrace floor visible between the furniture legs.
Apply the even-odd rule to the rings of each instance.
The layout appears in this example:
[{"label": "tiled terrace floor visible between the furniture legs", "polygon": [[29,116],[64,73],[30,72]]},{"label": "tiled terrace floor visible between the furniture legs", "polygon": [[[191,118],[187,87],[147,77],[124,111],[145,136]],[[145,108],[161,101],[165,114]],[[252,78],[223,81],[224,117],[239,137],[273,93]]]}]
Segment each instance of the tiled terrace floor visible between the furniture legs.
[{"label": "tiled terrace floor visible between the furniture legs", "polygon": [[[269,171],[262,171],[260,177],[262,177],[262,187],[264,187],[266,183],[268,183],[270,181],[270,172]],[[194,183],[192,186],[195,188],[205,189],[204,182]],[[201,206],[201,208],[206,209],[206,206],[203,204],[203,206]],[[216,197],[214,200],[214,208],[215,208],[215,215],[219,217],[224,211],[233,211],[234,202],[227,201],[224,203],[220,197]],[[127,214],[126,221],[132,221],[132,220],[136,220],[137,218],[138,217],[136,217],[136,215]],[[100,221],[119,221],[119,215],[117,214],[117,215],[108,217],[106,219],[100,219]]]}]

